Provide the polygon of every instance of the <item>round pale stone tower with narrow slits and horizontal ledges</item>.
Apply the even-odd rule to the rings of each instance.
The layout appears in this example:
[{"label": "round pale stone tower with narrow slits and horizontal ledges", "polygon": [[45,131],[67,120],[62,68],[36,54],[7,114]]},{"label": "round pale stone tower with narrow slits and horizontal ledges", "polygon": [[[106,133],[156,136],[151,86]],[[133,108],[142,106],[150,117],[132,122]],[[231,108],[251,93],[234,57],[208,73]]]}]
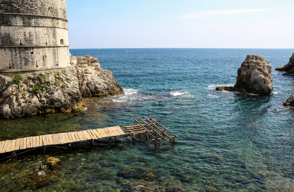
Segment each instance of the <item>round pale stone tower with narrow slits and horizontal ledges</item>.
[{"label": "round pale stone tower with narrow slits and horizontal ledges", "polygon": [[65,0],[0,0],[0,74],[69,64]]}]

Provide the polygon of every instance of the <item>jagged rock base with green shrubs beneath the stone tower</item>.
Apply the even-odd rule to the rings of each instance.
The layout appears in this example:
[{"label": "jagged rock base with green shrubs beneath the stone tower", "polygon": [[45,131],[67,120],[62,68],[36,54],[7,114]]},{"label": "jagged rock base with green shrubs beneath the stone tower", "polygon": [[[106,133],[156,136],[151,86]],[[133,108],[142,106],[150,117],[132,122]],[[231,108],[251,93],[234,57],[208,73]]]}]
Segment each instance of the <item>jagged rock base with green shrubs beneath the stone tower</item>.
[{"label": "jagged rock base with green shrubs beneath the stone tower", "polygon": [[26,79],[0,75],[0,118],[81,111],[85,105],[82,97],[124,93],[97,59],[71,57],[71,63],[73,66],[64,69],[36,71]]}]

